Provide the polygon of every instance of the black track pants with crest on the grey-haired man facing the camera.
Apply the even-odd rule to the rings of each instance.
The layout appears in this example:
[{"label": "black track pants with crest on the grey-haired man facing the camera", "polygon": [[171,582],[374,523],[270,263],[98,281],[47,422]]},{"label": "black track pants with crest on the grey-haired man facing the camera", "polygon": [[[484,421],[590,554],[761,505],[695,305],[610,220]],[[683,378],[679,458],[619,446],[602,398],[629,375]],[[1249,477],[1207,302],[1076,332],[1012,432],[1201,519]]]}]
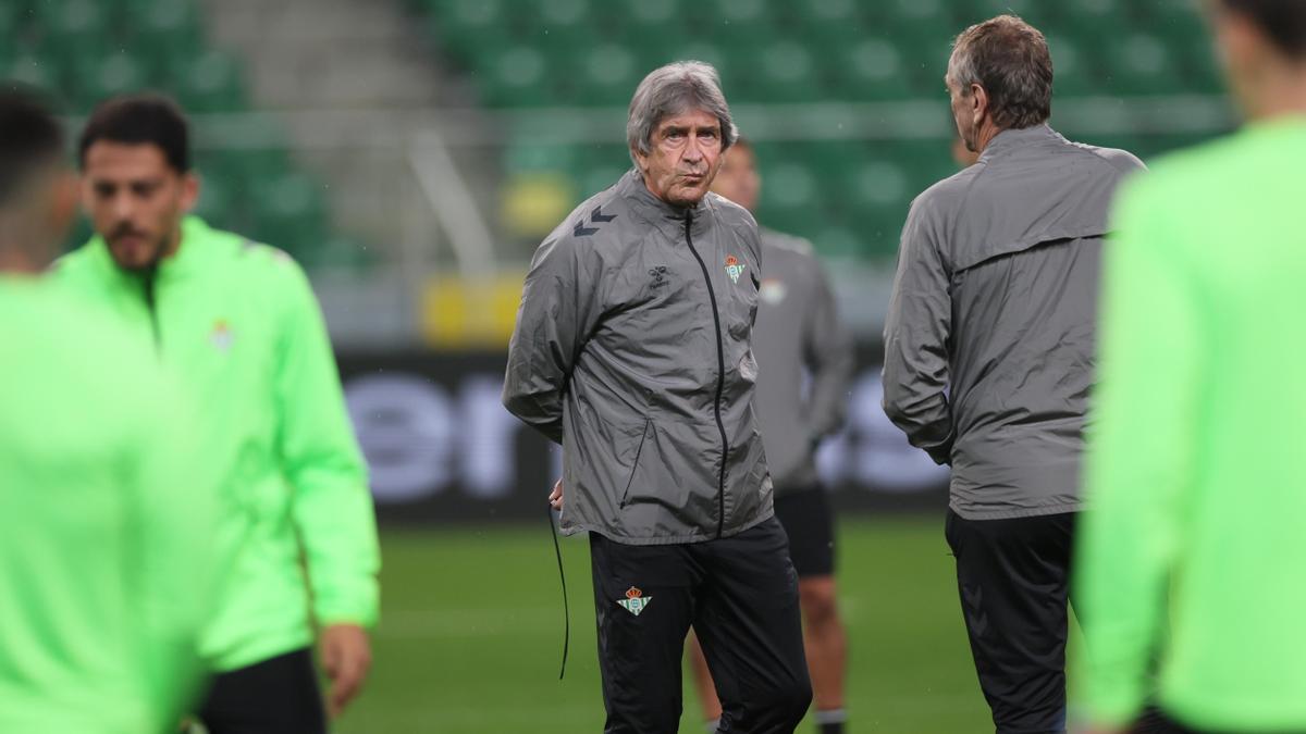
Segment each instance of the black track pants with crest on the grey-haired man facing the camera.
[{"label": "black track pants with crest on the grey-haired man facing the camera", "polygon": [[675,734],[692,624],[717,683],[720,731],[790,733],[811,703],[798,575],[774,519],[700,543],[590,534],[606,734]]}]

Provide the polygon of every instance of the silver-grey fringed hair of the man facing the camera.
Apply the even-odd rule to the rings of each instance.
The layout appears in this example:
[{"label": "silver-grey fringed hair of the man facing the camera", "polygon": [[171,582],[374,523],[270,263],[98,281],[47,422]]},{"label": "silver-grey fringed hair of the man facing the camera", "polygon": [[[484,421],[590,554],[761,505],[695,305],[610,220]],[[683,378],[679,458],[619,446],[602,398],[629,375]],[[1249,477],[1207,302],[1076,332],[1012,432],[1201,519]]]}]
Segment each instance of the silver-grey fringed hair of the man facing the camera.
[{"label": "silver-grey fringed hair of the man facing the camera", "polygon": [[730,118],[730,106],[721,91],[721,76],[704,61],[674,61],[653,69],[635,89],[626,118],[626,144],[631,161],[639,165],[635,152],[653,152],[653,131],[673,115],[703,110],[721,123],[721,150],[739,140],[739,129]]}]

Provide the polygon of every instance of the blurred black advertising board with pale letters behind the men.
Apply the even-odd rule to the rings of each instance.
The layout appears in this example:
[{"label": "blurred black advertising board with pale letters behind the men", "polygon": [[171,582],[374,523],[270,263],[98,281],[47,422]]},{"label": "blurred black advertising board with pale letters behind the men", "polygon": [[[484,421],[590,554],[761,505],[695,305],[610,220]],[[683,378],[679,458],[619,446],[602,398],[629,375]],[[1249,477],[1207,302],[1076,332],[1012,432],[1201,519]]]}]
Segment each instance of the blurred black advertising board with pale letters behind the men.
[{"label": "blurred black advertising board with pale letters behind the men", "polygon": [[[910,445],[880,409],[878,349],[859,350],[845,430],[818,465],[840,509],[938,509],[947,470]],[[349,413],[390,522],[538,519],[560,474],[558,447],[499,402],[503,353],[346,351]]]}]

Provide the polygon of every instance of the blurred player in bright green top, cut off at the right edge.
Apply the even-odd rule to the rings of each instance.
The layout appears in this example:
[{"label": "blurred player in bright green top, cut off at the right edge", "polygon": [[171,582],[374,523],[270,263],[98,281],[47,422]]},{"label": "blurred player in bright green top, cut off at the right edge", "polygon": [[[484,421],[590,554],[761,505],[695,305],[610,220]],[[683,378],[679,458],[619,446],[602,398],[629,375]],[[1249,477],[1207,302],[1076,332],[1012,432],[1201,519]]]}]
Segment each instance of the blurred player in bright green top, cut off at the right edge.
[{"label": "blurred player in bright green top, cut off at the right edge", "polygon": [[1087,714],[1306,731],[1306,3],[1212,0],[1247,124],[1122,188],[1077,598]]}]

